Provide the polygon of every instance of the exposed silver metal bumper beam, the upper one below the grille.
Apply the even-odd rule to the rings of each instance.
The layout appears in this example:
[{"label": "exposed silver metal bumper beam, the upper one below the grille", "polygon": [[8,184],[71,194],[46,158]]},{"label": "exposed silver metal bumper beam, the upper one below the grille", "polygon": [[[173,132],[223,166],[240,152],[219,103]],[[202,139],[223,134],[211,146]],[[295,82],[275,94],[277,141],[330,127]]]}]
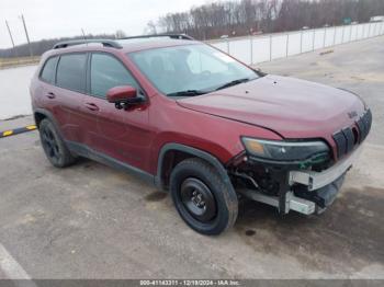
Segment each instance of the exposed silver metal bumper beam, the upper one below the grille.
[{"label": "exposed silver metal bumper beam, the upper one below the grille", "polygon": [[331,168],[321,171],[290,171],[289,183],[293,185],[300,183],[306,185],[308,191],[319,190],[339,179],[345,174],[353,164],[353,162],[359,158],[362,150],[360,146],[354,150],[348,158],[340,160]]}]

